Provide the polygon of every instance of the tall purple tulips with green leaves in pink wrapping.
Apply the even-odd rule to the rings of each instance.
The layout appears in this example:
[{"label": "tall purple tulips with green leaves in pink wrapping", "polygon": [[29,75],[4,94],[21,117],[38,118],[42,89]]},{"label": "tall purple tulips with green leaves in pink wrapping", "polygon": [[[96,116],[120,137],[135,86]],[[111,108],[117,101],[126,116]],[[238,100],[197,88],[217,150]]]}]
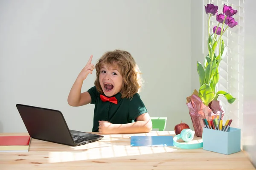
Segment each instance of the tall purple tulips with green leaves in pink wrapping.
[{"label": "tall purple tulips with green leaves in pink wrapping", "polygon": [[[223,41],[223,34],[228,28],[235,27],[238,23],[233,16],[237,13],[231,6],[224,4],[222,13],[218,14],[218,6],[207,4],[205,12],[208,18],[208,54],[204,59],[204,63],[197,62],[197,71],[199,76],[200,88],[187,97],[187,106],[192,119],[192,124],[196,136],[202,137],[204,123],[202,119],[213,119],[220,113],[223,116],[224,110],[221,102],[218,101],[219,96],[224,96],[227,102],[233,103],[236,98],[226,91],[216,91],[216,85],[219,81],[219,65],[226,55],[227,46]],[[210,28],[211,17],[216,17],[217,26]]]}]

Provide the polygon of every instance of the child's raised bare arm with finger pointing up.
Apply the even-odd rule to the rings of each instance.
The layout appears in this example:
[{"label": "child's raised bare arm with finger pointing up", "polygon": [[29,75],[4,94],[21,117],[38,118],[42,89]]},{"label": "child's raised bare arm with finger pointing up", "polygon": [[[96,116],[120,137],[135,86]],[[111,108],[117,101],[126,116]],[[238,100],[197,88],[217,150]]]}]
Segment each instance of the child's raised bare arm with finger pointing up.
[{"label": "child's raised bare arm with finger pointing up", "polygon": [[93,56],[90,57],[85,67],[79,73],[78,77],[76,78],[76,81],[74,82],[70,90],[70,94],[68,95],[68,98],[67,98],[67,102],[70,106],[87,105],[91,102],[90,94],[87,91],[84,93],[81,93],[81,88],[82,88],[84,79],[86,79],[89,73],[92,74],[93,69],[95,68],[94,65],[91,63],[92,58]]}]

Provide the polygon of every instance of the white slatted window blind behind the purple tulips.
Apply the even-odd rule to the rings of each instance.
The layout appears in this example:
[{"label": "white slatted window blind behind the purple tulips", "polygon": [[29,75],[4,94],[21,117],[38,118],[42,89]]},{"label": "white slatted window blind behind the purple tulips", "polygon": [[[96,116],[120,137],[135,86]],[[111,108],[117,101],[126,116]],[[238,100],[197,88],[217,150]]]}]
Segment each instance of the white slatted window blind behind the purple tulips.
[{"label": "white slatted window blind behind the purple tulips", "polygon": [[[232,6],[233,9],[238,12],[233,16],[238,25],[233,28],[228,28],[223,34],[222,38],[227,46],[227,54],[221,61],[219,66],[219,82],[216,87],[216,91],[223,90],[231,94],[236,98],[236,101],[232,104],[227,102],[227,99],[223,96],[218,97],[224,108],[224,122],[227,119],[232,119],[232,127],[241,128],[243,123],[243,66],[244,66],[244,0],[204,0],[204,5],[212,3],[217,5],[218,14],[222,13],[224,4]],[[204,13],[205,14],[205,13]],[[208,21],[204,17],[204,42],[208,39]],[[216,15],[211,17],[210,31],[213,26],[217,26]],[[221,27],[221,24],[219,25]],[[223,28],[226,28],[224,24]],[[211,34],[212,32],[210,32]],[[208,54],[207,46],[204,45],[204,52],[206,56]],[[218,49],[217,49],[218,50]],[[218,54],[218,53],[217,53]]]}]

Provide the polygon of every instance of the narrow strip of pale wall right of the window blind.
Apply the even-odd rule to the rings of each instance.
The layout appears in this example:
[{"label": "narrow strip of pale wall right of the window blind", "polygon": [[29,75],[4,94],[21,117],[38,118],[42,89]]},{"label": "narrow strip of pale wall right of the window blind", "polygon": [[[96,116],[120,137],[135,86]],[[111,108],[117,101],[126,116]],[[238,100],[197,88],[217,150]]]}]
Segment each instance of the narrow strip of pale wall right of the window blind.
[{"label": "narrow strip of pale wall right of the window blind", "polygon": [[243,115],[243,150],[246,151],[256,167],[256,1],[245,1],[245,36],[244,36],[244,115]]}]

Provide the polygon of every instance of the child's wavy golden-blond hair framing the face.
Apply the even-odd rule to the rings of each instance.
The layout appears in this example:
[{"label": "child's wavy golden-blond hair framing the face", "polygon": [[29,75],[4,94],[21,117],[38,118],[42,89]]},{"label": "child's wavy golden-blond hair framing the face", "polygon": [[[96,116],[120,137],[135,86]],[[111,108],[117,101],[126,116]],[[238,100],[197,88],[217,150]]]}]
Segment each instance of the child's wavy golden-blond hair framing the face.
[{"label": "child's wavy golden-blond hair framing the face", "polygon": [[95,65],[96,80],[94,85],[100,94],[103,94],[103,91],[99,83],[99,74],[103,65],[116,68],[122,75],[123,82],[120,90],[122,98],[132,98],[134,94],[140,93],[143,85],[142,73],[129,52],[119,49],[108,51],[98,60]]}]

